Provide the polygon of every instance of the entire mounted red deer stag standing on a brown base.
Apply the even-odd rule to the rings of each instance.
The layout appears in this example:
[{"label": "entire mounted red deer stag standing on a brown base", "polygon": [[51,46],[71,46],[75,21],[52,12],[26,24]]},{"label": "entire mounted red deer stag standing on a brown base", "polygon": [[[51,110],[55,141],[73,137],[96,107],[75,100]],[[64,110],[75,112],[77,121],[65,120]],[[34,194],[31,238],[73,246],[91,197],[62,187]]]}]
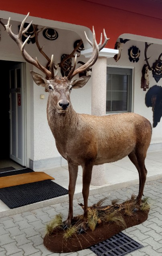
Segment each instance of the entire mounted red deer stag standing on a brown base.
[{"label": "entire mounted red deer stag standing on a brown base", "polygon": [[[26,16],[27,18],[27,16]],[[58,77],[54,74],[53,56],[51,58],[51,70],[43,67],[38,60],[32,59],[24,50],[25,42],[21,37],[24,33],[23,20],[19,34],[14,35],[10,26],[10,19],[6,25],[6,30],[10,37],[17,43],[24,59],[43,71],[49,79],[34,71],[30,71],[34,82],[49,91],[47,102],[47,119],[56,146],[69,166],[69,215],[65,221],[65,226],[69,226],[73,220],[73,195],[78,174],[78,166],[83,169],[83,199],[84,215],[83,223],[87,220],[87,206],[89,197],[89,185],[93,165],[101,165],[118,161],[128,156],[136,166],[139,173],[139,193],[136,198],[137,204],[141,205],[147,170],[145,167],[146,152],[150,145],[152,136],[152,126],[150,122],[134,113],[112,114],[108,116],[91,116],[88,114],[78,114],[73,110],[70,101],[72,89],[83,87],[90,78],[90,75],[73,80],[72,78],[87,70],[96,61],[99,51],[107,43],[105,41],[99,45],[96,43],[95,32],[93,30],[93,43],[87,41],[93,47],[91,58],[83,66],[75,70],[76,57],[73,68],[67,77]],[[82,228],[85,224],[82,225]]]}]

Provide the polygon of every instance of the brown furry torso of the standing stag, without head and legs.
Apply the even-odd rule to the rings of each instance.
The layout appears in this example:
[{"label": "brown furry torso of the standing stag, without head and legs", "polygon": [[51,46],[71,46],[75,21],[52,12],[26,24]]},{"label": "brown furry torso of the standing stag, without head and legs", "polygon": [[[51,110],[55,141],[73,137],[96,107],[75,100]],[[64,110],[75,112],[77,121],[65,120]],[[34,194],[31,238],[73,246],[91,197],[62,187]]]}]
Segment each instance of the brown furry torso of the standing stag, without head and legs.
[{"label": "brown furry torso of the standing stag, without head and legs", "polygon": [[78,114],[71,108],[67,114],[61,115],[53,109],[51,115],[48,107],[47,119],[57,149],[74,165],[83,166],[87,160],[93,165],[112,163],[128,156],[136,148],[146,151],[150,144],[149,140],[148,144],[145,143],[150,122],[138,114],[91,116]]}]

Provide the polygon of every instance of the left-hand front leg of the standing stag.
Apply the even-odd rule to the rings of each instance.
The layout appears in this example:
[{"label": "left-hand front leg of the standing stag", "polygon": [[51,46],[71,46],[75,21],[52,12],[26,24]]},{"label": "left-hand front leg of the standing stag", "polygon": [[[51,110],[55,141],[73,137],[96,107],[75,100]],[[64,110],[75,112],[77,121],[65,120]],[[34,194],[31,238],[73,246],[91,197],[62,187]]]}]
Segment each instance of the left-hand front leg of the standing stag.
[{"label": "left-hand front leg of the standing stag", "polygon": [[75,185],[78,175],[78,166],[68,163],[69,167],[69,214],[67,220],[64,222],[64,229],[71,225],[73,219],[73,196],[75,192]]}]

